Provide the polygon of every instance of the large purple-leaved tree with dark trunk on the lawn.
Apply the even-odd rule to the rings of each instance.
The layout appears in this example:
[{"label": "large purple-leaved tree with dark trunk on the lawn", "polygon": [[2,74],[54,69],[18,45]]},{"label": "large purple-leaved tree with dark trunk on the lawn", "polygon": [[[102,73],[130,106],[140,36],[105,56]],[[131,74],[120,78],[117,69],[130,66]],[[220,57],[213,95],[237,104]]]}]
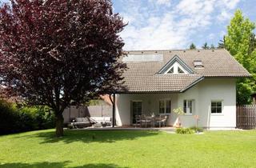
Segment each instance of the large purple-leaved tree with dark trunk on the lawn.
[{"label": "large purple-leaved tree with dark trunk on the lawn", "polygon": [[0,80],[31,104],[50,106],[56,135],[70,101],[119,86],[126,65],[122,18],[110,0],[11,0],[0,8]]}]

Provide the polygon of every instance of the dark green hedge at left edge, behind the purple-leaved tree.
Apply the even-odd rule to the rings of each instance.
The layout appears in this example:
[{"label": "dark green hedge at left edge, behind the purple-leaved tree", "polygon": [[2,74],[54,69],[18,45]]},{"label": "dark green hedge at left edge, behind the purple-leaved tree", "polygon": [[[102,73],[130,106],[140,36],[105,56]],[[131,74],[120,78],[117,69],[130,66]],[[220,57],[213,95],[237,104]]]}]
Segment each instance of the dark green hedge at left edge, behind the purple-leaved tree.
[{"label": "dark green hedge at left edge, behind the purple-leaved tree", "polygon": [[47,106],[22,106],[0,100],[0,134],[54,128],[54,114]]}]

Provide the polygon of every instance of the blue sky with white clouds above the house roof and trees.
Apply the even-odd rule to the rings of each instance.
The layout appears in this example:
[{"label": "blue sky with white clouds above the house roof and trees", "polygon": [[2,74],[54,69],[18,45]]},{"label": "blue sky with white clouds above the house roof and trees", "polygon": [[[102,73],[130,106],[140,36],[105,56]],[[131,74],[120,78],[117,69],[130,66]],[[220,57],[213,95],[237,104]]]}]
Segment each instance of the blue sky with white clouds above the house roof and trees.
[{"label": "blue sky with white clouds above the house roof and trees", "polygon": [[128,23],[120,33],[125,50],[218,46],[237,9],[256,22],[256,0],[113,0],[113,6]]}]

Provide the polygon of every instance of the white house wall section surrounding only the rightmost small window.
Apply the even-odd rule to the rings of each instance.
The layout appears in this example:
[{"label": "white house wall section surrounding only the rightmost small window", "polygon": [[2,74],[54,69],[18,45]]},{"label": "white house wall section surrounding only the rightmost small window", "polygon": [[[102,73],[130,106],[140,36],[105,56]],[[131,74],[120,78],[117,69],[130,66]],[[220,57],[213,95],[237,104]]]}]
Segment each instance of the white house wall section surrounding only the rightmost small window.
[{"label": "white house wall section surrounding only the rightmost small window", "polygon": [[[208,79],[200,83],[200,108],[205,114],[202,126],[210,129],[230,129],[236,126],[236,80]],[[210,113],[211,100],[222,101],[222,114]]]}]

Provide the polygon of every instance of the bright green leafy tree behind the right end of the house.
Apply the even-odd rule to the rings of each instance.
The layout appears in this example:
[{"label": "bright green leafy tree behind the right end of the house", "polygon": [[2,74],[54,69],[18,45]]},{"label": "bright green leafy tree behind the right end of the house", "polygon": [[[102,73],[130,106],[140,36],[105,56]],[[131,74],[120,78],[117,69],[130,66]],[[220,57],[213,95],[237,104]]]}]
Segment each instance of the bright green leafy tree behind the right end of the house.
[{"label": "bright green leafy tree behind the right end of the house", "polygon": [[253,30],[255,23],[244,18],[241,10],[237,10],[230,25],[227,26],[227,34],[224,37],[226,50],[234,56],[252,74],[253,78],[242,78],[237,83],[238,104],[250,103],[250,94],[256,90],[256,48]]}]

